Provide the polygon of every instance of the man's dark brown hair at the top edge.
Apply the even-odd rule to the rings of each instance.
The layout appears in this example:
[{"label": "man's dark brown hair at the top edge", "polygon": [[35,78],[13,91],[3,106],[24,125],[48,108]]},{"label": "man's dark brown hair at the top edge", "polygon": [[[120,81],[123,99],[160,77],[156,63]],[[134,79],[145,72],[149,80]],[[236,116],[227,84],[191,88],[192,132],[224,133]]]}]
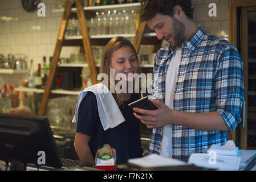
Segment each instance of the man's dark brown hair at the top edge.
[{"label": "man's dark brown hair at the top edge", "polygon": [[158,13],[173,17],[176,5],[180,5],[186,16],[193,19],[192,0],[141,0],[140,21],[151,20]]}]

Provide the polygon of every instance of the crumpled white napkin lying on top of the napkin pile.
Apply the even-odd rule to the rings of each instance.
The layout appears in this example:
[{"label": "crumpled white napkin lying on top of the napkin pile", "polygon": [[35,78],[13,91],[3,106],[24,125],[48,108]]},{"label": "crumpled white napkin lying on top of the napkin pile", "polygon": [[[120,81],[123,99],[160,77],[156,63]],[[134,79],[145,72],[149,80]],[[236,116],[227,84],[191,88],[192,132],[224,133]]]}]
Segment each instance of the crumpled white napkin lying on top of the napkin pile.
[{"label": "crumpled white napkin lying on top of the napkin pile", "polygon": [[209,153],[210,151],[216,152],[217,155],[237,155],[238,147],[235,147],[233,140],[228,140],[224,146],[212,144],[207,152]]}]

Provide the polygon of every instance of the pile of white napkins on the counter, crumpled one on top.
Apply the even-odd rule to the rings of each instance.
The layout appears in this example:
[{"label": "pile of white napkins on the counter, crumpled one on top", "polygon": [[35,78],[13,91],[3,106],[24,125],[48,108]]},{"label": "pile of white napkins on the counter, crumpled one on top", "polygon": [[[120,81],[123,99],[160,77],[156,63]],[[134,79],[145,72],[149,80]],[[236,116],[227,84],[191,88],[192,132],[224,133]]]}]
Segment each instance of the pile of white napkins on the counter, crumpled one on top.
[{"label": "pile of white napkins on the counter, crumpled one on top", "polygon": [[228,140],[224,146],[213,144],[205,154],[190,155],[188,163],[220,171],[237,171],[241,162],[237,154],[238,147],[233,140]]}]

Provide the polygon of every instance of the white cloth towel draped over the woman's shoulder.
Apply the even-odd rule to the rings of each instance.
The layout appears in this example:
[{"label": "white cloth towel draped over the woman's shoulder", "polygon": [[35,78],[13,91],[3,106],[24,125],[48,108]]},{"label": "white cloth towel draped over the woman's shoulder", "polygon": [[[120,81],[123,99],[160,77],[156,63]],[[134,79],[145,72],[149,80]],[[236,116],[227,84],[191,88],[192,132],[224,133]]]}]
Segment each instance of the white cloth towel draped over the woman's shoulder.
[{"label": "white cloth towel draped over the woman's shoulder", "polygon": [[100,122],[104,131],[109,128],[116,127],[125,121],[115,98],[112,96],[107,86],[99,83],[84,89],[83,92],[80,93],[78,104],[76,104],[75,115],[72,119],[73,123],[78,122],[79,106],[88,91],[93,92],[96,96],[97,109],[99,111]]}]

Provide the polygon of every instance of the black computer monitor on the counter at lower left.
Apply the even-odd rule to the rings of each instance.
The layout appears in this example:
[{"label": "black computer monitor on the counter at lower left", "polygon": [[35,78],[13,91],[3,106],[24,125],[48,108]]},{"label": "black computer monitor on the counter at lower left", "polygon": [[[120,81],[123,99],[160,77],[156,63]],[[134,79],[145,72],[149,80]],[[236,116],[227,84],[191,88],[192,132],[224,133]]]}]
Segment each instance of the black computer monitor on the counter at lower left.
[{"label": "black computer monitor on the counter at lower left", "polygon": [[48,119],[0,114],[0,160],[61,167]]}]

